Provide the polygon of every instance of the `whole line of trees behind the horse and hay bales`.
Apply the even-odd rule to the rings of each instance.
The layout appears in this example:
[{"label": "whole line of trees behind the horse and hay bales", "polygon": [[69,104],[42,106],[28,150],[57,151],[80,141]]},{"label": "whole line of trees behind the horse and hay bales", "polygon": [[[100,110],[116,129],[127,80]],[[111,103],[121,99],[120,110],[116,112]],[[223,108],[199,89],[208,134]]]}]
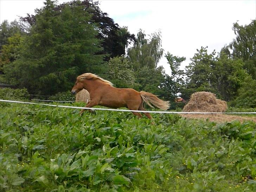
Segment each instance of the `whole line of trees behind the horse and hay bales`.
[{"label": "whole line of trees behind the horse and hay bales", "polygon": [[[120,27],[98,2],[46,0],[34,15],[0,25],[0,82],[31,94],[70,90],[75,78],[96,73],[120,88],[134,88],[174,102],[209,91],[233,105],[256,107],[256,20],[233,24],[236,38],[220,52],[200,47],[185,70],[185,57],[164,54],[161,32],[134,35]],[[157,66],[162,57],[171,75]]]}]

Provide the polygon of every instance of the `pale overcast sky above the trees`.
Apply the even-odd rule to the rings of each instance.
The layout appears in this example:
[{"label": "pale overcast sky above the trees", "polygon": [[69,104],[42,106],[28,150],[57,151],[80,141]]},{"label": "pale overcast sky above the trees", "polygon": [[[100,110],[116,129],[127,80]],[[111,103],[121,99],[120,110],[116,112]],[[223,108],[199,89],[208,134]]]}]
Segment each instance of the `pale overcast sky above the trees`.
[{"label": "pale overcast sky above the trees", "polygon": [[[43,2],[0,0],[0,22],[33,14]],[[256,0],[102,0],[100,8],[119,26],[127,26],[130,33],[137,34],[140,28],[146,34],[160,30],[164,52],[187,58],[182,68],[190,63],[190,58],[201,46],[208,46],[209,52],[214,49],[219,52],[228,45],[235,38],[233,23],[238,21],[245,25],[256,18]],[[164,56],[159,65],[170,72]]]}]

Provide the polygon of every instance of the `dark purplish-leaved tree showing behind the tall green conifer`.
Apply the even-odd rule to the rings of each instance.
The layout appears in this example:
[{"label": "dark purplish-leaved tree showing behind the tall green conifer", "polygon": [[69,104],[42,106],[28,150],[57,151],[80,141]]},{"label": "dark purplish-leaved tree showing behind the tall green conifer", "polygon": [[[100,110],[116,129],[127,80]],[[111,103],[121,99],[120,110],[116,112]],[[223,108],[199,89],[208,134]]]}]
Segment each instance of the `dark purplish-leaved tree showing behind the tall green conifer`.
[{"label": "dark purplish-leaved tree showing behind the tall green conifer", "polygon": [[[98,54],[105,54],[104,60],[109,60],[116,56],[121,56],[125,54],[125,49],[128,44],[134,41],[134,34],[130,34],[127,27],[120,27],[114,20],[108,17],[107,13],[101,11],[98,7],[97,1],[84,0],[84,1],[70,1],[68,3],[63,3],[61,5],[55,6],[54,11],[59,12],[66,6],[83,7],[84,12],[90,13],[91,17],[89,23],[93,23],[97,28],[97,38],[102,40],[101,47],[103,48]],[[27,14],[27,17],[21,17],[24,30],[27,30],[29,26],[37,23],[37,18],[35,15]]]}]

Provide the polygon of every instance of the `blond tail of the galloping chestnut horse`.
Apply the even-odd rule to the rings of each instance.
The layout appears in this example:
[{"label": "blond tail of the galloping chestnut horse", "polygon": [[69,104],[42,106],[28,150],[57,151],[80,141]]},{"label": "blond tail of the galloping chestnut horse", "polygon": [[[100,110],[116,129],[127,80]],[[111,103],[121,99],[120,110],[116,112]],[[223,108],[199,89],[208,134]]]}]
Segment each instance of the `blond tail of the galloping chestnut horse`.
[{"label": "blond tail of the galloping chestnut horse", "polygon": [[154,94],[141,91],[140,96],[143,101],[145,101],[150,107],[154,108],[151,103],[162,110],[167,110],[170,107],[169,101],[163,101],[160,98],[156,97]]}]

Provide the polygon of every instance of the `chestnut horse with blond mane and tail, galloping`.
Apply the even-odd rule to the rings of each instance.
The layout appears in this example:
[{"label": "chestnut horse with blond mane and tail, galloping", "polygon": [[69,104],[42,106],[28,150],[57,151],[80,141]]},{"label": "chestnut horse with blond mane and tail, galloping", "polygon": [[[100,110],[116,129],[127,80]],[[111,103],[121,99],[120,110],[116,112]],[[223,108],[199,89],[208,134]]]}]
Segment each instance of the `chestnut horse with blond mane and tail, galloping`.
[{"label": "chestnut horse with blond mane and tail, galloping", "polygon": [[[145,91],[136,91],[134,89],[120,89],[113,87],[113,84],[105,79],[92,73],[84,73],[79,75],[76,83],[72,88],[72,94],[77,94],[82,89],[86,89],[90,93],[91,101],[85,107],[93,107],[101,105],[110,108],[127,107],[130,110],[145,110],[143,102],[146,102],[150,107],[155,107],[167,110],[169,102],[160,100],[152,93]],[[82,114],[85,109],[82,109],[79,114]],[[142,115],[138,112],[132,112],[139,118]],[[149,119],[152,119],[149,113],[144,113]]]}]

